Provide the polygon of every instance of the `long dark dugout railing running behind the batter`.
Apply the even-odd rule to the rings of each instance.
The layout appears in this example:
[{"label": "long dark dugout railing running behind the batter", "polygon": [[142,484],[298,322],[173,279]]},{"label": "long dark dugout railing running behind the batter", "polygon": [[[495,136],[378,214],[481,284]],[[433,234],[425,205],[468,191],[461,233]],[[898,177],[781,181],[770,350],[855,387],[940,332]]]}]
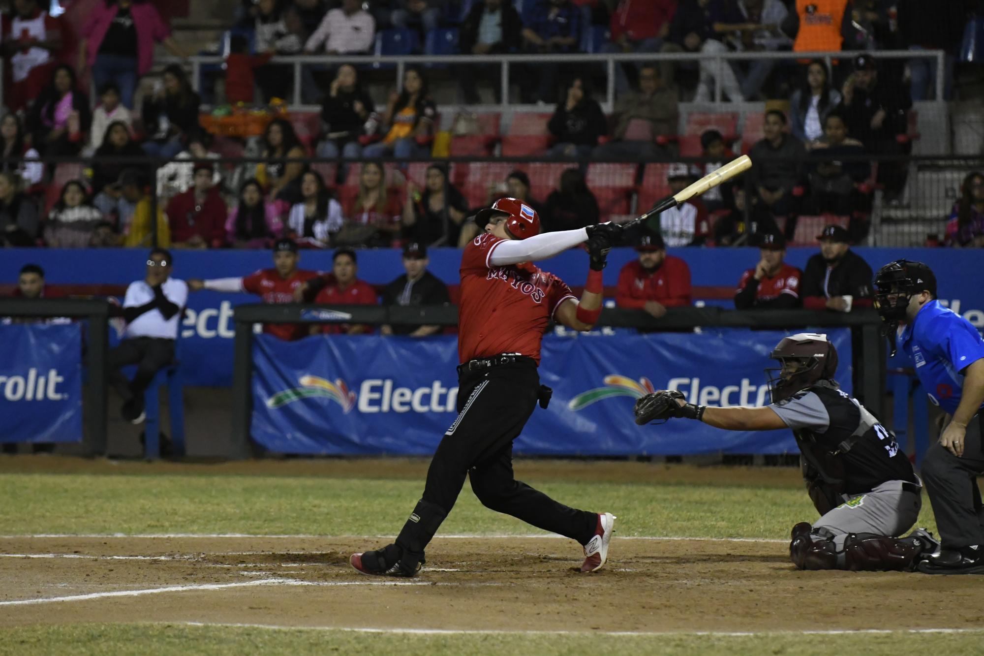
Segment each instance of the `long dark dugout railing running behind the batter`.
[{"label": "long dark dugout railing running behind the batter", "polygon": [[[238,305],[235,324],[232,381],[232,457],[247,458],[253,452],[252,415],[253,334],[262,323],[359,323],[370,325],[458,325],[455,305],[312,305],[302,303]],[[670,308],[658,319],[640,310],[605,308],[597,327],[642,330],[693,331],[695,328],[805,329],[850,328],[859,348],[854,354],[854,389],[865,406],[881,417],[886,393],[886,343],[882,321],[871,308],[848,313],[817,310],[741,311],[719,307]],[[602,337],[599,339],[618,339]]]}]

